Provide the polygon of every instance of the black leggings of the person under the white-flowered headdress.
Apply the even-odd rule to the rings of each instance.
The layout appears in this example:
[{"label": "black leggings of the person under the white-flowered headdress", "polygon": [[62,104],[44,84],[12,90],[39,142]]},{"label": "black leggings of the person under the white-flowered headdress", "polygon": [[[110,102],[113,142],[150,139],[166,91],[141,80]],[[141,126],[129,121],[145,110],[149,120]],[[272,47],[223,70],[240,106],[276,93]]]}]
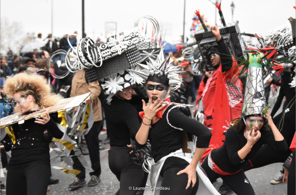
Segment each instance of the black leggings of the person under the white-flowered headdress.
[{"label": "black leggings of the person under the white-flowered headdress", "polygon": [[[131,151],[132,148],[127,146],[111,146],[110,148],[108,154],[109,167],[120,181],[120,190],[115,195],[134,195],[137,190],[133,189],[141,187],[144,171],[142,166],[135,165],[129,160],[128,154]],[[132,189],[130,190],[129,187],[132,187]]]}]

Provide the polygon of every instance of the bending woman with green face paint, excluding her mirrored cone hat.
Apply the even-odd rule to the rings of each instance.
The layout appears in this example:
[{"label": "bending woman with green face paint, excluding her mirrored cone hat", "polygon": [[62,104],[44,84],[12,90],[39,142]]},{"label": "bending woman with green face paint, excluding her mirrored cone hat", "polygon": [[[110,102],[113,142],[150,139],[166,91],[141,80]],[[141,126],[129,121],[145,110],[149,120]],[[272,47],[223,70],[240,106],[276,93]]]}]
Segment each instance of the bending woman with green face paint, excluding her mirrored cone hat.
[{"label": "bending woman with green face paint, excluding her mirrored cone hat", "polygon": [[286,151],[287,143],[274,125],[267,111],[268,126],[266,130],[262,115],[248,115],[229,128],[225,142],[213,150],[202,163],[202,168],[213,183],[217,178],[223,181],[238,195],[252,195],[254,190],[242,169],[246,162],[258,152],[263,144],[274,150]]}]

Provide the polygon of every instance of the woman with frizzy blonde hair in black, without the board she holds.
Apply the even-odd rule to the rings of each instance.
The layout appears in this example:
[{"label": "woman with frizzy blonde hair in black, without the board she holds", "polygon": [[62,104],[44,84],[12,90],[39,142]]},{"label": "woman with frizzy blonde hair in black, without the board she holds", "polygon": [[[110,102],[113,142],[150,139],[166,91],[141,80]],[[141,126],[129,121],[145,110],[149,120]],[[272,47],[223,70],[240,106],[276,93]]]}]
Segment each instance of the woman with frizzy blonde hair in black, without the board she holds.
[{"label": "woman with frizzy blonde hair in black, without the board she holds", "polygon": [[[46,80],[35,74],[16,74],[8,78],[4,91],[15,99],[16,111],[21,115],[53,106],[62,99],[62,96],[50,93]],[[5,150],[11,151],[7,166],[7,195],[46,194],[51,174],[49,142],[52,137],[59,139],[63,136],[55,122],[59,123],[57,113],[46,111],[45,117],[30,118],[8,128],[9,132],[1,141]],[[46,131],[49,138],[45,136]]]}]

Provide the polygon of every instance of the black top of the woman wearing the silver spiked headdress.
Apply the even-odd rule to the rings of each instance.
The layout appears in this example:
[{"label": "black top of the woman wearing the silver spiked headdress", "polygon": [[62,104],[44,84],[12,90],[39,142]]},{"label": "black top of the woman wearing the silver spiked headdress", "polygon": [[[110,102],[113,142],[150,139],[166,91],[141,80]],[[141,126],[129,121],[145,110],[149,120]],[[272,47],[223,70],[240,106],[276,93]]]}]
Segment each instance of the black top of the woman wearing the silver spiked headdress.
[{"label": "black top of the woman wearing the silver spiked headdress", "polygon": [[[177,108],[170,110],[172,107],[174,105],[170,105],[163,113],[163,117],[152,124],[149,130],[148,139],[151,141],[151,152],[154,162],[183,147],[183,132],[168,124],[167,115],[171,125],[197,136],[197,148],[209,147],[212,136],[209,128],[197,120],[187,117]],[[168,114],[169,110],[170,112]],[[135,142],[138,149],[144,147],[144,145],[139,144],[136,140]]]}]

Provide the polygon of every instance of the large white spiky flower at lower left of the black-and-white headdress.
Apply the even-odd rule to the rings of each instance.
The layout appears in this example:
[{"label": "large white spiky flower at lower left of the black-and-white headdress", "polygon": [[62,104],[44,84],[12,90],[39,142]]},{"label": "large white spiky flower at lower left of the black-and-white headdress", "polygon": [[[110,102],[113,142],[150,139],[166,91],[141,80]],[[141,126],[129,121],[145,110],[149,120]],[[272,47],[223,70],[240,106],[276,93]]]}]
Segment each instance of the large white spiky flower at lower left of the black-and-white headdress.
[{"label": "large white spiky flower at lower left of the black-and-white headdress", "polygon": [[105,88],[108,90],[106,91],[106,94],[116,94],[117,91],[122,91],[123,86],[120,86],[124,83],[124,79],[120,77],[119,75],[111,75],[110,77],[106,78],[105,83],[102,84]]}]

